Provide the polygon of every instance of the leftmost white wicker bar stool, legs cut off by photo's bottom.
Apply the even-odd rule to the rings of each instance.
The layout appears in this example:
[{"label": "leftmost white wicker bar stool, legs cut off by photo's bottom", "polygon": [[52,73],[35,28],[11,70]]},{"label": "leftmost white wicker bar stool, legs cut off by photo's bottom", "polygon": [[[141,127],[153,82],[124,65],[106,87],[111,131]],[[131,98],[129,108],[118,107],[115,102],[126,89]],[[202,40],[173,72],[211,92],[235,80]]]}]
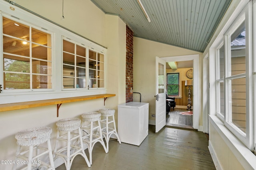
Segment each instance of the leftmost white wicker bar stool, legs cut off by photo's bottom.
[{"label": "leftmost white wicker bar stool, legs cut off by photo's bottom", "polygon": [[[17,139],[18,148],[16,150],[15,162],[12,166],[12,170],[16,169],[18,158],[27,162],[27,166],[21,170],[31,170],[32,168],[39,169],[41,167],[44,167],[47,170],[55,170],[50,142],[51,133],[52,129],[50,127],[36,127],[16,133],[15,138]],[[39,146],[46,141],[47,147]],[[21,147],[29,147],[29,149],[21,152]],[[33,154],[34,149],[36,150],[36,154]],[[39,159],[39,157],[44,154],[48,154],[50,164]]]}]

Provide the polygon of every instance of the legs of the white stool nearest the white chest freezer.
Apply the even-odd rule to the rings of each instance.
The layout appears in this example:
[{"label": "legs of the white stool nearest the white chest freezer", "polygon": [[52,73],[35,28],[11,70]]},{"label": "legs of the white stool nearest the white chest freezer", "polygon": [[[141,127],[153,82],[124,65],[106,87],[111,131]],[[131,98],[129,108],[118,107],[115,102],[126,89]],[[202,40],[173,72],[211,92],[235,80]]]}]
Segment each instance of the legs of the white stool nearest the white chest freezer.
[{"label": "legs of the white stool nearest the white chest freezer", "polygon": [[[120,141],[119,136],[116,131],[116,123],[115,123],[114,115],[112,115],[112,120],[110,120],[110,121],[108,120],[108,117],[110,117],[110,116],[106,116],[106,119],[101,121],[104,124],[106,123],[106,127],[102,128],[102,135],[104,135],[105,140],[106,140],[107,151],[108,151],[108,142],[109,142],[110,136],[112,134],[116,135],[118,142],[121,144],[121,141]],[[110,124],[110,123],[113,123],[114,129],[108,127],[108,124]]]}]

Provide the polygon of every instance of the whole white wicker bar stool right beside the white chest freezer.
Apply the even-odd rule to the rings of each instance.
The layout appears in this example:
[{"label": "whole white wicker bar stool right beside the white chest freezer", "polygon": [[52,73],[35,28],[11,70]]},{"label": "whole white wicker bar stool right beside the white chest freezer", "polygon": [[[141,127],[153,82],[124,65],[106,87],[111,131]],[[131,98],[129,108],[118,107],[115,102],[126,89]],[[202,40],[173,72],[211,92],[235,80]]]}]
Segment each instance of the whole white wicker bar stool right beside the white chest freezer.
[{"label": "whole white wicker bar stool right beside the white chest freezer", "polygon": [[[106,140],[106,144],[107,144],[107,151],[108,151],[108,142],[110,139],[110,136],[112,134],[116,135],[118,142],[121,144],[121,141],[119,139],[119,136],[117,134],[116,131],[116,123],[115,123],[115,110],[114,109],[100,109],[99,111],[101,113],[102,116],[105,117],[105,119],[101,120],[101,123],[106,124],[106,127],[102,128],[102,135],[104,135],[105,140]],[[108,119],[108,117],[112,116],[112,120]],[[109,124],[113,123],[113,128],[109,127]]]}]

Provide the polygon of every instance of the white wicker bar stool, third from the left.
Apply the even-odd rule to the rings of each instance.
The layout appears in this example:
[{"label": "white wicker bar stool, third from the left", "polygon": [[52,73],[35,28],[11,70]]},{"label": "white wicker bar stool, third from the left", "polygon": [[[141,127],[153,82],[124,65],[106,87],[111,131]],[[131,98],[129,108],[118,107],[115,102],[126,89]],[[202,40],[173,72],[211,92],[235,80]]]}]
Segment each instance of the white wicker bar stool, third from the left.
[{"label": "white wicker bar stool, third from the left", "polygon": [[85,143],[88,147],[90,164],[92,164],[92,149],[95,143],[99,142],[103,146],[105,152],[108,153],[102,138],[100,116],[101,114],[95,111],[82,114],[81,129],[84,131],[83,134],[85,134],[82,135],[82,139],[83,143]]}]

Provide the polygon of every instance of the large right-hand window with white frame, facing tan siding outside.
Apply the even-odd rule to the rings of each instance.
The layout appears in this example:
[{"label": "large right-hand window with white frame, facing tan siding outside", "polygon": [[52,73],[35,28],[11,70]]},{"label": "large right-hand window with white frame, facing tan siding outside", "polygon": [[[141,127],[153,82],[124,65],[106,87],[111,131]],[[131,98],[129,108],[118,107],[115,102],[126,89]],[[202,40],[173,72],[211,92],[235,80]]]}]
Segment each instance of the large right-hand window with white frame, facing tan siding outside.
[{"label": "large right-hand window with white frame, facing tan siding outside", "polygon": [[[224,35],[224,125],[253,150],[252,6],[248,3]],[[217,84],[221,85],[221,78]],[[219,86],[220,87],[220,86]]]}]

